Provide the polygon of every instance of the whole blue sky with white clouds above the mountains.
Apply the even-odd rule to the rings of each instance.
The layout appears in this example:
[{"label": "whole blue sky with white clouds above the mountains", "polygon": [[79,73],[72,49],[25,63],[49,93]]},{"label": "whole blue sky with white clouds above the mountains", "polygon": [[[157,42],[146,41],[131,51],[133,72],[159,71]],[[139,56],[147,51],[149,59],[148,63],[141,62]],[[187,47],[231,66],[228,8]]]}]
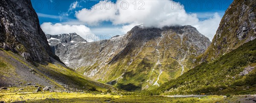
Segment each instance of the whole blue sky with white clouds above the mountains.
[{"label": "whole blue sky with white clouds above the mountains", "polygon": [[77,33],[88,42],[136,25],[192,25],[212,40],[233,0],[31,0],[44,33]]}]

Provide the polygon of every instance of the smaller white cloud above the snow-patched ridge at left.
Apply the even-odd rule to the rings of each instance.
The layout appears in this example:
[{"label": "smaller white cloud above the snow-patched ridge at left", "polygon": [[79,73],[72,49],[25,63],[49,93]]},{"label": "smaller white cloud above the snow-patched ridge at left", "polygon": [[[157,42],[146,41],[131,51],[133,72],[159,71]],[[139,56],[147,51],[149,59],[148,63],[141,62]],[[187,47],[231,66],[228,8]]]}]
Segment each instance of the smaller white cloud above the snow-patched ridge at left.
[{"label": "smaller white cloud above the snow-patched ridge at left", "polygon": [[62,25],[60,23],[52,24],[51,22],[44,22],[41,25],[42,30],[46,34],[58,35],[62,33],[77,33],[88,42],[93,42],[96,36],[92,33],[90,28],[85,25]]}]

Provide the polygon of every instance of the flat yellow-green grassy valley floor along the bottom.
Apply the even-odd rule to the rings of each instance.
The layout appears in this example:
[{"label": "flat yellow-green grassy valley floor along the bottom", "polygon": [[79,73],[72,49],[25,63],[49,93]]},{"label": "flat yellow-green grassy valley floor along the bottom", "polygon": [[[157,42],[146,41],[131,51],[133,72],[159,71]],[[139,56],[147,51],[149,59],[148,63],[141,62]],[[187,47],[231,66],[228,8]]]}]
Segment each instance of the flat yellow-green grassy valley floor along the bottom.
[{"label": "flat yellow-green grassy valley floor along the bottom", "polygon": [[32,89],[10,87],[8,90],[0,91],[0,101],[10,103],[254,103],[256,95],[208,95],[208,96],[142,96],[142,95],[120,95],[107,93],[84,93],[84,92],[33,92]]}]

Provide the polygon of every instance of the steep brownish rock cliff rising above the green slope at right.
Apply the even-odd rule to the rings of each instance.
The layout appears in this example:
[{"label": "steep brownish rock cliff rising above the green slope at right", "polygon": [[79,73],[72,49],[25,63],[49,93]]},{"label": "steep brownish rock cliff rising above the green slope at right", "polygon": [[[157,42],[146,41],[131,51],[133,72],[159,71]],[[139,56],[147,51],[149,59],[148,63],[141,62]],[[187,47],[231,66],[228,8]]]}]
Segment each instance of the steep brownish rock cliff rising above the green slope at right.
[{"label": "steep brownish rock cliff rising above the green slope at right", "polygon": [[198,61],[212,61],[256,38],[256,1],[234,0],[221,19],[212,44]]}]

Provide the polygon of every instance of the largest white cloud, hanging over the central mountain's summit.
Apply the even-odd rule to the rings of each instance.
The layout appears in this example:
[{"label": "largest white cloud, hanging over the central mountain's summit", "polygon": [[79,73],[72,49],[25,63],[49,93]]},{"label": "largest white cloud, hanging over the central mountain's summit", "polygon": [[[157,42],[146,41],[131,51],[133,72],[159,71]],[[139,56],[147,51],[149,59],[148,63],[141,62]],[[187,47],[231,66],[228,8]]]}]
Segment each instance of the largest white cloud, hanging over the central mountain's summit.
[{"label": "largest white cloud, hanging over the central mountain's summit", "polygon": [[[124,25],[123,33],[140,24],[159,28],[166,25],[192,25],[205,36],[215,34],[218,28],[216,24],[221,20],[215,14],[210,19],[200,21],[197,14],[187,13],[183,5],[171,0],[140,0],[136,1],[136,6],[134,3],[132,0],[117,0],[116,3],[101,1],[90,9],[76,11],[76,17],[87,25],[99,25],[104,21],[110,21],[113,25]],[[139,10],[139,7],[143,10]]]}]

